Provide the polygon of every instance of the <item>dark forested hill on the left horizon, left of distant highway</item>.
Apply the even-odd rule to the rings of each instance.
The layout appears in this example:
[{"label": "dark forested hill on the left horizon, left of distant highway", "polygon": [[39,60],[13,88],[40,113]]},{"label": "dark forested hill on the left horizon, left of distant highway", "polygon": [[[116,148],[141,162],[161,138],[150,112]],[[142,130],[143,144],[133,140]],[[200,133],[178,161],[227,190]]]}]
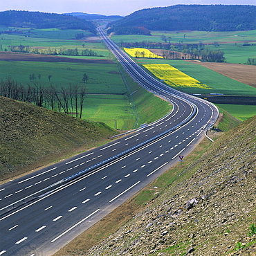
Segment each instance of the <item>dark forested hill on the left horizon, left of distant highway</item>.
[{"label": "dark forested hill on the left horizon, left of distant highway", "polygon": [[59,28],[82,29],[95,34],[95,25],[71,15],[59,15],[46,12],[28,12],[8,10],[0,12],[0,26],[14,26],[26,28]]}]

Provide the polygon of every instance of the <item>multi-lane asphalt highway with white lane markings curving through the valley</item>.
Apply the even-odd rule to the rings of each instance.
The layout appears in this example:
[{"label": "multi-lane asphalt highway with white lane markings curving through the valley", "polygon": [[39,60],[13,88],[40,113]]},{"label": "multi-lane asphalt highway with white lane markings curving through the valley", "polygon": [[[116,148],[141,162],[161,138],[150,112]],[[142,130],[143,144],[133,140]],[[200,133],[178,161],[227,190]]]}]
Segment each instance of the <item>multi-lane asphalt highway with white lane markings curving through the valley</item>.
[{"label": "multi-lane asphalt highway with white lane markings curving through the valley", "polygon": [[154,80],[101,29],[127,72],[173,104],[127,136],[0,186],[0,255],[52,255],[186,156],[217,109]]}]

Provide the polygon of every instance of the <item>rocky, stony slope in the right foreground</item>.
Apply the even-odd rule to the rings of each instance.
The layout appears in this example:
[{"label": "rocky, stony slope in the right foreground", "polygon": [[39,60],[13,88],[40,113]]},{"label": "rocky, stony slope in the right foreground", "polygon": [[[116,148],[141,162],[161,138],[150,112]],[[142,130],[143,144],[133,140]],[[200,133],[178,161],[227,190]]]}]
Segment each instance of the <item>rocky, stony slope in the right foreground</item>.
[{"label": "rocky, stony slope in the right foreground", "polygon": [[[256,116],[86,255],[256,255]],[[84,255],[84,254],[82,254]]]}]

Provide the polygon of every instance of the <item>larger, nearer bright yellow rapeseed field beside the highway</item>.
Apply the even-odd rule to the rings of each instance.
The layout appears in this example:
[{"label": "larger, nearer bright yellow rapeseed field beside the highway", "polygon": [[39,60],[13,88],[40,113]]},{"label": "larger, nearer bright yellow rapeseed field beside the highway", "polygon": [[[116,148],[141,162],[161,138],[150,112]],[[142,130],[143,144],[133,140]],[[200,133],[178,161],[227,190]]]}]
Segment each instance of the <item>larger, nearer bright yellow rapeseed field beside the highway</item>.
[{"label": "larger, nearer bright yellow rapeseed field beside the highway", "polygon": [[151,73],[161,80],[165,80],[166,84],[170,84],[174,87],[190,87],[190,88],[201,88],[211,89],[206,84],[202,84],[198,80],[186,75],[179,71],[179,69],[170,66],[169,64],[145,64],[143,65]]}]

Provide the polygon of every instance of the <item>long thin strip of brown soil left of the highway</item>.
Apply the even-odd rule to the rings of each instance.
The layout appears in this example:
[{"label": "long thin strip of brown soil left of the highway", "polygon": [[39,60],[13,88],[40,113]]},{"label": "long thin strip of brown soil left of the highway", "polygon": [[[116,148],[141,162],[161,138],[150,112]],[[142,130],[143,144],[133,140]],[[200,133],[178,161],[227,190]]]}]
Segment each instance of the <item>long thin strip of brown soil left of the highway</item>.
[{"label": "long thin strip of brown soil left of the highway", "polygon": [[85,60],[70,57],[59,57],[53,55],[39,55],[32,53],[8,53],[0,52],[0,60],[9,62],[74,62],[74,63],[95,63],[113,64],[111,60]]}]

